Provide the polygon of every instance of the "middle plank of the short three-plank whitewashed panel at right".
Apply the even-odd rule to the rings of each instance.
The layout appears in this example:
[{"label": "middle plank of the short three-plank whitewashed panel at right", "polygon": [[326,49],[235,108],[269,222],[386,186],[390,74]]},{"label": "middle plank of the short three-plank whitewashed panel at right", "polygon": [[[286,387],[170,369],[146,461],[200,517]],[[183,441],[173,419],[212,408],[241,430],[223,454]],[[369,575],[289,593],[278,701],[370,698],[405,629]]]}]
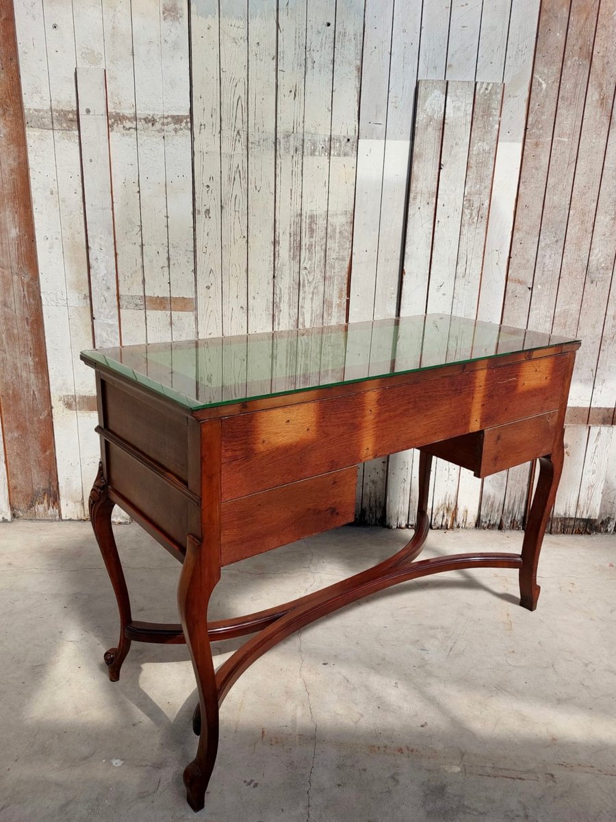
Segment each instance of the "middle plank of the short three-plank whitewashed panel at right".
[{"label": "middle plank of the short three-plank whitewashed panel at right", "polygon": [[447,84],[443,152],[428,289],[429,313],[450,314],[453,304],[474,86],[474,83],[466,81],[451,81]]}]

